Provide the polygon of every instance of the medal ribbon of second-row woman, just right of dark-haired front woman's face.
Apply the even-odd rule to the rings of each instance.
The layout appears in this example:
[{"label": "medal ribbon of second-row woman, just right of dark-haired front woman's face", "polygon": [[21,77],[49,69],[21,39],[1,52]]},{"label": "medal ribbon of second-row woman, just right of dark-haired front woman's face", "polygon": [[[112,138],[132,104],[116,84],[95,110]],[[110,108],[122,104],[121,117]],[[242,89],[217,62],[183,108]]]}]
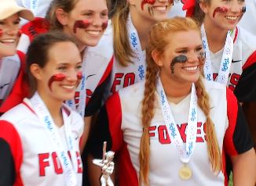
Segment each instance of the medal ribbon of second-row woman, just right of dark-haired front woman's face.
[{"label": "medal ribbon of second-row woman, just right of dark-haired front woman's face", "polygon": [[85,116],[85,109],[86,109],[86,70],[85,70],[85,63],[82,63],[82,79],[76,91],[79,91],[79,104],[76,107],[75,105],[75,98],[66,101],[66,104],[77,111],[82,118]]}]

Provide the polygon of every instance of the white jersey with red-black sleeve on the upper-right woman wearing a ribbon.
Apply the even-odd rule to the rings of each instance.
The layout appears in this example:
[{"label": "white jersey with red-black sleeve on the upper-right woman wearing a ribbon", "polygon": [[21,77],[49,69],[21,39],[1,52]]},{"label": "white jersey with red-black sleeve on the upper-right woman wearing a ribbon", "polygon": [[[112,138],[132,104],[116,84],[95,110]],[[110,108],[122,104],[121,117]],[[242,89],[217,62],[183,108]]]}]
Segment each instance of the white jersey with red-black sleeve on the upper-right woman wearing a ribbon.
[{"label": "white jersey with red-black sleeve on the upper-right woman wearing a ribbon", "polygon": [[[254,95],[256,94],[254,90],[256,89],[256,37],[243,30],[243,28],[236,27],[232,33],[232,38],[234,46],[227,86],[232,91],[235,91],[235,95],[240,102],[255,100],[256,98],[251,94],[252,92],[254,92]],[[219,52],[210,52],[214,80],[217,80],[218,77],[222,54],[223,48]],[[240,81],[242,73],[243,78]],[[244,82],[244,80],[247,82]],[[249,92],[243,88],[245,84],[250,84],[254,91]]]}]

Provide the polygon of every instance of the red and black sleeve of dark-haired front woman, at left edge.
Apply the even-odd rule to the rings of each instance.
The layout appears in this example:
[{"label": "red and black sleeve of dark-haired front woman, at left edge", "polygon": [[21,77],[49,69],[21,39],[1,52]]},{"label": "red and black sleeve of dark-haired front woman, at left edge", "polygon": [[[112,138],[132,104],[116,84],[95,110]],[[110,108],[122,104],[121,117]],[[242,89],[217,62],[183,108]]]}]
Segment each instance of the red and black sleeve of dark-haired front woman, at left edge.
[{"label": "red and black sleeve of dark-haired front woman, at left edge", "polygon": [[0,120],[0,185],[23,185],[20,178],[22,146],[15,127]]}]

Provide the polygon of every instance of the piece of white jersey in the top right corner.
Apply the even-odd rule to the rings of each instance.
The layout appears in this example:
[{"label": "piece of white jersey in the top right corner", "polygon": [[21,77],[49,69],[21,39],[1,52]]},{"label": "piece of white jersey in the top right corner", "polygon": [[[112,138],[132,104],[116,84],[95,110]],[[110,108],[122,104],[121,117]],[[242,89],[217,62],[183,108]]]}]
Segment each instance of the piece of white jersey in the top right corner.
[{"label": "piece of white jersey in the top right corner", "polygon": [[238,23],[245,30],[256,35],[256,0],[246,0],[247,12],[244,13],[243,18]]}]

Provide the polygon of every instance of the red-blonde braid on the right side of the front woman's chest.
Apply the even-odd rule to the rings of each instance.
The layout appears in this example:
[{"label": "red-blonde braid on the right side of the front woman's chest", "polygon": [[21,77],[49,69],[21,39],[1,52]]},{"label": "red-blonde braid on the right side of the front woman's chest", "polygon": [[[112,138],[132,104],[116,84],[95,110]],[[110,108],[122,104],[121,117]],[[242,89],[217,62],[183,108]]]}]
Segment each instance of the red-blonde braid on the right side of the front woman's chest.
[{"label": "red-blonde braid on the right side of the front woman's chest", "polygon": [[221,171],[221,151],[218,146],[216,131],[214,130],[214,123],[210,119],[210,98],[205,91],[202,77],[196,82],[196,93],[198,97],[198,105],[207,117],[206,120],[206,136],[207,136],[207,150],[210,158],[212,169],[215,173]]}]

